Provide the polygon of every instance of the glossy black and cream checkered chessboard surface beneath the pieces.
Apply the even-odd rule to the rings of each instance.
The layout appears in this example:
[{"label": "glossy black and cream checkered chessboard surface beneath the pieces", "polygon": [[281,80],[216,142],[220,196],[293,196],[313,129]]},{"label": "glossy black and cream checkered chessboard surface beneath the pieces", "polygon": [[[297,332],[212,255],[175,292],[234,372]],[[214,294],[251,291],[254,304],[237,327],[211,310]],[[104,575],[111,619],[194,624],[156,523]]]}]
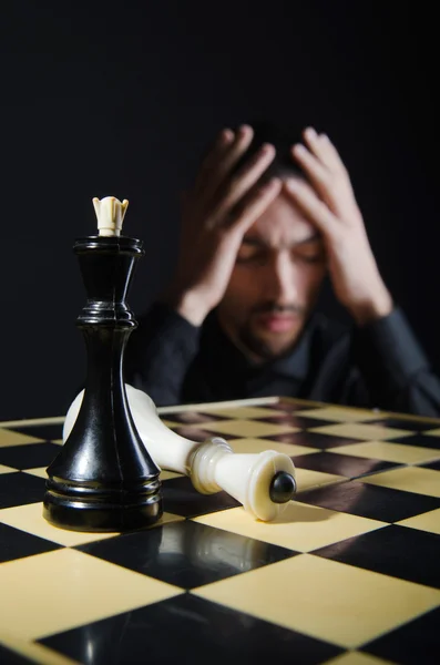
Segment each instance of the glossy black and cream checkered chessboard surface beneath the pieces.
[{"label": "glossy black and cream checkered chessboard surface beneath the pieces", "polygon": [[164,472],[144,531],[42,518],[62,418],[0,423],[0,663],[439,663],[440,420],[295,400],[163,409],[176,432],[291,456],[274,523]]}]

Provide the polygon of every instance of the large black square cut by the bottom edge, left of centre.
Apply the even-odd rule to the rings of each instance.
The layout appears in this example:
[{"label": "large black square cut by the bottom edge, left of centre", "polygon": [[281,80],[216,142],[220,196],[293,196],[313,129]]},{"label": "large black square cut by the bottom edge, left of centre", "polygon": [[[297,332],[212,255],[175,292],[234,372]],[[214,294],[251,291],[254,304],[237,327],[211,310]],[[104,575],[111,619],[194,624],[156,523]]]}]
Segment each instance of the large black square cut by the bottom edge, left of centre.
[{"label": "large black square cut by the bottom edge, left of centre", "polygon": [[225,665],[273,663],[274,659],[321,665],[344,651],[192,594],[40,642],[84,665]]}]

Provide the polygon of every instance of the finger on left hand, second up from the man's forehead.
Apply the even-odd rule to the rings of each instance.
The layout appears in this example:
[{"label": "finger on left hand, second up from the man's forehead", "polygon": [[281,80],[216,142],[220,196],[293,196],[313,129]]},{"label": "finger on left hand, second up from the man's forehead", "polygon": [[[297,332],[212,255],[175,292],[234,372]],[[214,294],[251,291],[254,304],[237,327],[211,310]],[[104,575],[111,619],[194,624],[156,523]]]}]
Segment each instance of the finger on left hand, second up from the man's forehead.
[{"label": "finger on left hand, second up from the man's forehead", "polygon": [[214,212],[214,218],[222,221],[238,202],[246,196],[252,187],[258,182],[275,157],[275,149],[270,144],[264,144],[257,154],[246,164],[222,193],[221,200]]}]

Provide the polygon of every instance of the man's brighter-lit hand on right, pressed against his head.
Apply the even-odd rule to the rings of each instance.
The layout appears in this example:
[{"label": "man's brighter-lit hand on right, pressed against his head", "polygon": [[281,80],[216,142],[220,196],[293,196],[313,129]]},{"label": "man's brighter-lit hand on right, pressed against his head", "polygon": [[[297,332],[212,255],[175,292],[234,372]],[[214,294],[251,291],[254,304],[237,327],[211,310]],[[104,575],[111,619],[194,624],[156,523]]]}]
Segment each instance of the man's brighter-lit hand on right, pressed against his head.
[{"label": "man's brighter-lit hand on right, pressed against his head", "polygon": [[335,145],[311,127],[293,146],[307,181],[289,178],[285,191],[323,235],[336,297],[357,324],[390,314],[391,296],[368,242],[351,182]]}]

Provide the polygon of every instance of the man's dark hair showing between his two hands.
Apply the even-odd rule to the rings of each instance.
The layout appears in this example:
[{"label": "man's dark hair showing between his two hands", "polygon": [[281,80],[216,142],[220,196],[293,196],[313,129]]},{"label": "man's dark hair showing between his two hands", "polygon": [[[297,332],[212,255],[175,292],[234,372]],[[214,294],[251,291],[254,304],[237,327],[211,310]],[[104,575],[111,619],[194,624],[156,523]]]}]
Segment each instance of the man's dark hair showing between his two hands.
[{"label": "man's dark hair showing between his two hands", "polygon": [[276,155],[262,180],[268,181],[272,177],[287,176],[305,177],[304,172],[291,155],[291,146],[301,141],[300,132],[268,120],[258,120],[248,124],[254,130],[254,137],[249,147],[236,164],[235,173],[248,163],[264,143],[270,143],[276,150]]}]

